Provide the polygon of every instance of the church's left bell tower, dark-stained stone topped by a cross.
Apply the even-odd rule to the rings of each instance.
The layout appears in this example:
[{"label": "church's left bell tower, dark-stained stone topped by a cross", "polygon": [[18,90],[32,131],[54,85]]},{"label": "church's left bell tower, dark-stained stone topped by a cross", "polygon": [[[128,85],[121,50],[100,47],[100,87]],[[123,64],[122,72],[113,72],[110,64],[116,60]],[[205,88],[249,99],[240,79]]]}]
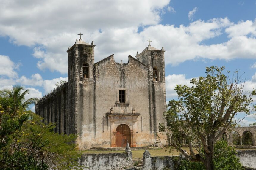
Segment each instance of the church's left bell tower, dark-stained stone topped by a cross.
[{"label": "church's left bell tower, dark-stained stone topped by a cross", "polygon": [[[79,96],[79,91],[83,81],[93,82],[93,65],[94,65],[94,43],[91,44],[84,42],[81,38],[76,40],[72,47],[68,48],[68,95],[67,102],[68,108],[67,112],[70,116],[69,122],[74,123],[75,130],[71,133],[80,133],[80,125],[77,123],[77,115],[79,111],[79,100],[83,96]],[[80,104],[81,105],[81,104]]]}]

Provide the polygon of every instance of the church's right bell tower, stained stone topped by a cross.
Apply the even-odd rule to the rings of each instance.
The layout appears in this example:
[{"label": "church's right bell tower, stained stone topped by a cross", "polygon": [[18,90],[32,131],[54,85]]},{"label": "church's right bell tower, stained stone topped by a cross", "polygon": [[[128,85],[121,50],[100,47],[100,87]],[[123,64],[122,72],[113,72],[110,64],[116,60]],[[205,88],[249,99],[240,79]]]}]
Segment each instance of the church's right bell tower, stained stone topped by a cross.
[{"label": "church's right bell tower, stained stone topped by a cross", "polygon": [[[165,91],[165,65],[164,52],[149,45],[141,52],[137,53],[138,61],[148,66],[148,88],[149,88],[149,127],[150,133],[158,131],[158,123],[163,120],[159,119],[166,108],[166,91]],[[164,109],[159,109],[164,108]]]}]

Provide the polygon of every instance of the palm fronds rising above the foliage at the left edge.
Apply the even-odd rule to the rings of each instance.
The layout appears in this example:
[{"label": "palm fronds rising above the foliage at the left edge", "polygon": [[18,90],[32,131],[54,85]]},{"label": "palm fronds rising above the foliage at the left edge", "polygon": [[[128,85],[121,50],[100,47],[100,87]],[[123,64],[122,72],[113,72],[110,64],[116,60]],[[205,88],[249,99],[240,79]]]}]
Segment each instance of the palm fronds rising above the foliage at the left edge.
[{"label": "palm fronds rising above the foliage at the left edge", "polygon": [[16,104],[20,104],[20,106],[24,109],[29,109],[30,104],[35,104],[35,98],[29,98],[25,100],[25,95],[29,94],[29,90],[25,90],[23,86],[15,85],[13,88],[2,90],[0,96],[13,98],[13,101]]}]

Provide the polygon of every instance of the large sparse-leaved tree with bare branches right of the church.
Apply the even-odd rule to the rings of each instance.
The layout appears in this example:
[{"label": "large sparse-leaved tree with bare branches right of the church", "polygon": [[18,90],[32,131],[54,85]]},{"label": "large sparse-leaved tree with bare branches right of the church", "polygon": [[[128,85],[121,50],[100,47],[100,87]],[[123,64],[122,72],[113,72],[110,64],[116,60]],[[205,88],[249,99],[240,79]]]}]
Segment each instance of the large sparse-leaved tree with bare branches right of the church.
[{"label": "large sparse-leaved tree with bare branches right of the church", "polygon": [[[214,169],[213,158],[218,156],[214,144],[225,131],[235,126],[234,116],[239,112],[249,114],[255,109],[249,104],[256,91],[245,95],[244,82],[239,76],[230,78],[223,71],[224,67],[206,67],[206,77],[192,79],[192,87],[177,85],[178,99],[169,101],[169,110],[163,114],[166,123],[160,124],[160,132],[168,138],[183,134],[192,157],[182,150],[180,143],[172,143],[170,149],[179,150],[192,162],[204,163],[207,170]],[[201,146],[204,152],[199,152]],[[196,154],[193,148],[199,153]]]}]

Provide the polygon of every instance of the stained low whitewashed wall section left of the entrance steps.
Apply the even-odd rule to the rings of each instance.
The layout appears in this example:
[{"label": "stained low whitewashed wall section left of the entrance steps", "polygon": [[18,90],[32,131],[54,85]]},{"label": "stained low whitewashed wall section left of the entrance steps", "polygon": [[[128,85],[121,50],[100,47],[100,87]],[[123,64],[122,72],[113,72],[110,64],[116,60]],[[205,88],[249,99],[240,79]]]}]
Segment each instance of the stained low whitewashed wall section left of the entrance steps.
[{"label": "stained low whitewashed wall section left of the entrance steps", "polygon": [[86,170],[119,170],[133,165],[131,152],[83,154],[79,162]]}]

